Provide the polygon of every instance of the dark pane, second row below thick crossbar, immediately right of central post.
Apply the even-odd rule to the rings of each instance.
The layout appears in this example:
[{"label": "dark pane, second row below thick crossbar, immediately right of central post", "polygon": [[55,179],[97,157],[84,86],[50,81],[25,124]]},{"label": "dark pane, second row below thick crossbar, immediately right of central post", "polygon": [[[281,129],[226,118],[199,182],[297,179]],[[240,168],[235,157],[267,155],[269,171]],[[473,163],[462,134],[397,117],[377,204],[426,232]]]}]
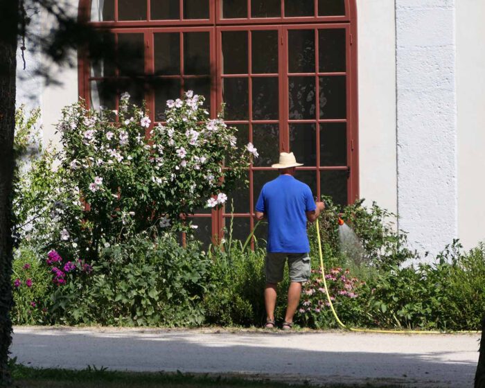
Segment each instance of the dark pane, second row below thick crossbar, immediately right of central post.
[{"label": "dark pane, second row below thick crossbar, immediately right of central post", "polygon": [[225,120],[247,120],[249,111],[247,78],[224,78],[222,99],[226,104]]}]

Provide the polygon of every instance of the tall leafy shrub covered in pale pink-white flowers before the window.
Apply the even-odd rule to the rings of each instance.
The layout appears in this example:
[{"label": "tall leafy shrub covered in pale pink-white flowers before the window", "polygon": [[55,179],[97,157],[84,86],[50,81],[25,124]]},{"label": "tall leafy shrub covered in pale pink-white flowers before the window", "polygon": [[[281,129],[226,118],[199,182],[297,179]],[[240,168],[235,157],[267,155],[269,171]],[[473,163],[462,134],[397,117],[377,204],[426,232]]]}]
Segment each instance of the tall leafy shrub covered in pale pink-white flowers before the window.
[{"label": "tall leafy shrub covered in pale pink-white flowers before the window", "polygon": [[119,112],[98,114],[82,102],[63,110],[60,171],[69,200],[56,215],[64,245],[84,254],[149,228],[190,231],[184,214],[226,202],[256,148],[238,149],[236,129],[210,119],[192,91],[167,105],[166,125],[150,131],[147,113],[127,94]]}]

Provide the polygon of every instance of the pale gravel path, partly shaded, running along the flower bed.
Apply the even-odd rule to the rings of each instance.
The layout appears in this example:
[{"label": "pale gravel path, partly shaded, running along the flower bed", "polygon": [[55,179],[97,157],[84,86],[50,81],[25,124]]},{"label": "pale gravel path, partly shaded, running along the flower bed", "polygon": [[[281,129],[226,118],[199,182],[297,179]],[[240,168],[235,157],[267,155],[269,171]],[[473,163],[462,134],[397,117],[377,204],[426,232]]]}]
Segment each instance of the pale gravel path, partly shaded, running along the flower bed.
[{"label": "pale gravel path, partly shaded, running along the flower bed", "polygon": [[14,328],[12,356],[34,367],[229,373],[400,387],[470,388],[479,334]]}]

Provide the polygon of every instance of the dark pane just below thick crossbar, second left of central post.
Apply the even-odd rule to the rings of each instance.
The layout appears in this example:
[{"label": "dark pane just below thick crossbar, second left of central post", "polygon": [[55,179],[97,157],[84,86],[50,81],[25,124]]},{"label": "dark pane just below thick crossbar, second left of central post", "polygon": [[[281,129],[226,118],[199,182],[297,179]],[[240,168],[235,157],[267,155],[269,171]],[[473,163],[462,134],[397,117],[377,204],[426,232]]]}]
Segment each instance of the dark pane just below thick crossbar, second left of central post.
[{"label": "dark pane just below thick crossbar, second left of central post", "polygon": [[153,39],[155,74],[180,74],[180,34],[156,33]]}]

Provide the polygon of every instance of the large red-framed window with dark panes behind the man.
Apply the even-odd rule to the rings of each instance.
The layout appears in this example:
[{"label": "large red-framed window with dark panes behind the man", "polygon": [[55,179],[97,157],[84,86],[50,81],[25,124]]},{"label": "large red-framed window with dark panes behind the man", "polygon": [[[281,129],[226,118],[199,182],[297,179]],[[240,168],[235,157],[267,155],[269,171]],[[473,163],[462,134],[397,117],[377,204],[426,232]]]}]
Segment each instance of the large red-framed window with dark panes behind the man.
[{"label": "large red-framed window with dark panes behind the man", "polygon": [[[199,238],[220,236],[231,216],[233,238],[247,238],[279,152],[305,164],[297,178],[315,195],[338,204],[358,197],[354,0],[80,0],[80,10],[112,32],[120,64],[91,66],[80,56],[80,96],[91,107],[116,109],[129,91],[147,101],[156,124],[166,100],[193,89],[213,117],[225,103],[240,144],[258,148],[249,188],[231,193],[225,209],[194,215]],[[127,51],[138,59],[123,61]]]}]

